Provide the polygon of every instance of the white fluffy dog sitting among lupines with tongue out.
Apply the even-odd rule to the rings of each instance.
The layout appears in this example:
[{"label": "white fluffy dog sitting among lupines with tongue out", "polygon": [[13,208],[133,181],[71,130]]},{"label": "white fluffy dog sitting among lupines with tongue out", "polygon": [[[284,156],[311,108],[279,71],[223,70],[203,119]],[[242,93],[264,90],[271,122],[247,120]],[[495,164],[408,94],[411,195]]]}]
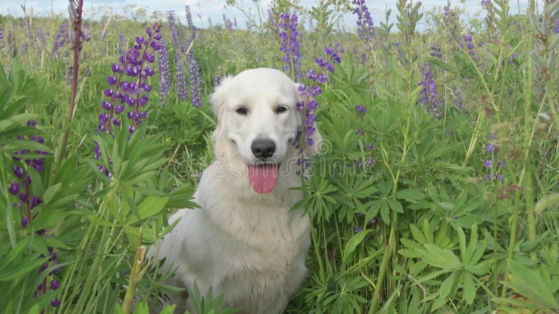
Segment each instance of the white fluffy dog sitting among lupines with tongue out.
[{"label": "white fluffy dog sitting among lupines with tongue out", "polygon": [[[282,313],[300,287],[310,221],[289,211],[302,197],[289,190],[301,184],[297,87],[279,70],[257,68],[226,77],[211,95],[216,159],[194,195],[201,209],[173,215],[181,220],[159,244],[157,258],[178,267],[171,284],[192,289],[196,281],[204,295],[211,286],[225,306],[249,314]],[[184,298],[171,301],[192,311]]]}]

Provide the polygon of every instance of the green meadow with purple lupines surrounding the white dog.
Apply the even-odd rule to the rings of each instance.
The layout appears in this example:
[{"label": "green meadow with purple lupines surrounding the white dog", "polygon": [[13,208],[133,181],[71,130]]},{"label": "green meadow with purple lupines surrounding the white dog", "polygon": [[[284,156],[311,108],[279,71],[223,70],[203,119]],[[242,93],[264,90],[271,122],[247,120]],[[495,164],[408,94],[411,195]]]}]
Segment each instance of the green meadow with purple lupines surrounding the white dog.
[{"label": "green meadow with purple lupines surrounding the white dog", "polygon": [[196,206],[214,87],[267,67],[312,90],[324,137],[301,156],[312,248],[286,313],[559,313],[559,1],[398,0],[372,21],[361,0],[275,0],[205,29],[80,1],[0,16],[0,312],[153,313],[180,292],[146,247]]}]

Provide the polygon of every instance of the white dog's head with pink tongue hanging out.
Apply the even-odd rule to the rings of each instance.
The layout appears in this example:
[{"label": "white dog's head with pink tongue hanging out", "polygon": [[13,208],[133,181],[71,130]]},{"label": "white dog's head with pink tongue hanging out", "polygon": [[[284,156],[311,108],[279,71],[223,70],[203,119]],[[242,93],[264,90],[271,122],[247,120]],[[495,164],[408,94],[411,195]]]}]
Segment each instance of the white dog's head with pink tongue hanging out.
[{"label": "white dog's head with pink tongue hanging out", "polygon": [[[278,166],[293,162],[298,154],[294,141],[303,122],[296,107],[301,101],[298,84],[279,70],[245,70],[226,77],[211,101],[217,116],[216,157],[244,163],[254,190],[269,193],[275,181],[263,173],[277,179]],[[313,136],[317,147],[320,133]]]}]

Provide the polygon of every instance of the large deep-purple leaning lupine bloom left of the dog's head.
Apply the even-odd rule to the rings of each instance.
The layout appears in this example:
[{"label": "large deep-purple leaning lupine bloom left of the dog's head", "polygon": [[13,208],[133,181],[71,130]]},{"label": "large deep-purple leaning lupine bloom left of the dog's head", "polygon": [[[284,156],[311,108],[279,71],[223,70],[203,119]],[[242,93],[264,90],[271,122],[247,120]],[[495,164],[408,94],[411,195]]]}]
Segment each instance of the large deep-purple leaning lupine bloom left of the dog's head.
[{"label": "large deep-purple leaning lupine bloom left of the dog's head", "polygon": [[[114,63],[111,67],[113,75],[108,76],[107,82],[112,88],[103,91],[103,95],[108,100],[101,102],[103,112],[99,114],[98,129],[102,133],[110,133],[111,126],[121,124],[116,114],[123,112],[126,105],[132,108],[126,114],[126,117],[131,120],[131,126],[133,124],[133,128],[129,126],[130,133],[133,133],[146,117],[146,114],[143,114],[143,107],[150,99],[147,93],[152,89],[152,86],[147,84],[147,79],[155,73],[149,66],[149,63],[155,60],[154,54],[150,51],[161,48],[159,45],[161,23],[155,23],[145,32],[147,38],[136,37],[136,44],[119,57],[119,64]],[[130,81],[124,80],[126,77],[130,77]]]}]

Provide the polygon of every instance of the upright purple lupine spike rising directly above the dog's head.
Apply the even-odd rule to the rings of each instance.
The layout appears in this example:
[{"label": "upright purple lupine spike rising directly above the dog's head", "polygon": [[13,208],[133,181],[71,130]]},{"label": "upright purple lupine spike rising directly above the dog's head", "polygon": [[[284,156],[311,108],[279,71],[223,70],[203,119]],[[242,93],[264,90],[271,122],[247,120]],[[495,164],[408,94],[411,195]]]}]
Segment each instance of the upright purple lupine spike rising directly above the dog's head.
[{"label": "upright purple lupine spike rising directly above the dog's head", "polygon": [[283,52],[284,71],[291,73],[294,82],[297,82],[303,75],[300,74],[301,54],[299,51],[299,32],[297,31],[298,17],[295,13],[282,13],[279,24],[279,38],[282,40],[282,47],[279,51]]}]

